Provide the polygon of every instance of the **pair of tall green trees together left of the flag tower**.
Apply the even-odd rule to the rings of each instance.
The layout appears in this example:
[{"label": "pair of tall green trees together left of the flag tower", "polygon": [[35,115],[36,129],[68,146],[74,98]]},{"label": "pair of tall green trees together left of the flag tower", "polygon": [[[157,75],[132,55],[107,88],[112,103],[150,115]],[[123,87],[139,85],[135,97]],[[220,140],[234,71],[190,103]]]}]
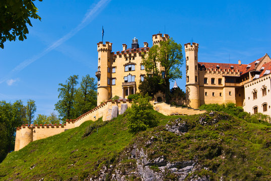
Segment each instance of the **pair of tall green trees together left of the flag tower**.
[{"label": "pair of tall green trees together left of the flag tower", "polygon": [[62,122],[66,119],[76,119],[80,115],[97,106],[97,83],[87,74],[82,78],[80,87],[78,75],[70,76],[65,84],[59,83],[59,101],[54,105]]}]

